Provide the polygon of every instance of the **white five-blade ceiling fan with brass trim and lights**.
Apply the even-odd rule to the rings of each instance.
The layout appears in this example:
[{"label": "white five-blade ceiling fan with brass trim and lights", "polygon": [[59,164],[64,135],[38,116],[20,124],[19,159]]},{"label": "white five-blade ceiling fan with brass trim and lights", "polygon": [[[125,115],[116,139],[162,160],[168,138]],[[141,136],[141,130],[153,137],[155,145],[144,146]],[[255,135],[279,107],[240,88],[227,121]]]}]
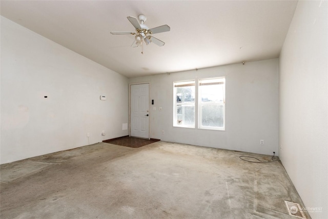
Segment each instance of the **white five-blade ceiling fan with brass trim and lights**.
[{"label": "white five-blade ceiling fan with brass trim and lights", "polygon": [[128,16],[128,20],[131,22],[131,24],[134,26],[136,32],[119,32],[119,31],[111,31],[111,34],[132,34],[135,35],[135,41],[131,45],[132,47],[138,47],[141,46],[141,53],[144,54],[144,42],[146,45],[149,45],[150,43],[154,43],[157,46],[164,46],[165,43],[160,41],[159,39],[155,38],[151,34],[155,33],[162,33],[170,31],[170,27],[168,25],[162,25],[159,27],[151,28],[149,29],[144,23],[147,20],[146,15],[140,14],[138,16],[139,21],[141,24],[139,24],[136,17]]}]

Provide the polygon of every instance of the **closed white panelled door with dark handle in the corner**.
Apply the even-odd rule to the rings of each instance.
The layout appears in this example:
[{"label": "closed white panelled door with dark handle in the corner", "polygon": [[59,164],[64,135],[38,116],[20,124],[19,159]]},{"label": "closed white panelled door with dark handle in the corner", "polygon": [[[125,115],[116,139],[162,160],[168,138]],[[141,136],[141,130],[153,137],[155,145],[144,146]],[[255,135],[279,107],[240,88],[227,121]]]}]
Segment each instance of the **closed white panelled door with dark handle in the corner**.
[{"label": "closed white panelled door with dark handle in the corner", "polygon": [[131,136],[149,138],[149,84],[131,85]]}]

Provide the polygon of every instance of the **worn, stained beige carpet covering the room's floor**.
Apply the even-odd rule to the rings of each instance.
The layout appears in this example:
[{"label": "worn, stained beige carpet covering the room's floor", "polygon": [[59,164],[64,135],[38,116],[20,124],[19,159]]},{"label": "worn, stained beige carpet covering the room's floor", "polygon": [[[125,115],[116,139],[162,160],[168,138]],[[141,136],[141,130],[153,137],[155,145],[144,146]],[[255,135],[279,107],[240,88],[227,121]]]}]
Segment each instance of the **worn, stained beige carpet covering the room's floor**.
[{"label": "worn, stained beige carpet covering the room's floor", "polygon": [[[33,162],[56,165],[1,183],[0,217],[293,218],[284,200],[305,207],[280,162],[248,163],[241,155],[271,160],[161,141],[34,157],[19,171]],[[1,169],[1,177],[10,172]]]}]

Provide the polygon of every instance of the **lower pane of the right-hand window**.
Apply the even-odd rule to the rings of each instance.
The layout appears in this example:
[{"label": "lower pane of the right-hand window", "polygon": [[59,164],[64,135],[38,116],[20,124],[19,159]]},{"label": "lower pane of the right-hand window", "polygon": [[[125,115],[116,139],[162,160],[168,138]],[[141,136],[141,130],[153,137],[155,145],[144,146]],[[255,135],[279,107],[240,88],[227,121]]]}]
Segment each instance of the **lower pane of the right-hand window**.
[{"label": "lower pane of the right-hand window", "polygon": [[223,127],[223,105],[206,104],[201,106],[201,125],[208,127]]}]

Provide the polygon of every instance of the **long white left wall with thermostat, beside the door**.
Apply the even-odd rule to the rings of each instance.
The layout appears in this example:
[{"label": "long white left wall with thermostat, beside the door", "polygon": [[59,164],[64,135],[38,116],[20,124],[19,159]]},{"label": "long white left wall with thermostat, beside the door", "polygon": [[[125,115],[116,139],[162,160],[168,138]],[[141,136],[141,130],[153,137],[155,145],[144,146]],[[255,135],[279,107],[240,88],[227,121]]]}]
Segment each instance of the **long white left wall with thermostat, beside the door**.
[{"label": "long white left wall with thermostat, beside the door", "polygon": [[128,104],[128,78],[1,17],[1,163],[128,135]]}]

